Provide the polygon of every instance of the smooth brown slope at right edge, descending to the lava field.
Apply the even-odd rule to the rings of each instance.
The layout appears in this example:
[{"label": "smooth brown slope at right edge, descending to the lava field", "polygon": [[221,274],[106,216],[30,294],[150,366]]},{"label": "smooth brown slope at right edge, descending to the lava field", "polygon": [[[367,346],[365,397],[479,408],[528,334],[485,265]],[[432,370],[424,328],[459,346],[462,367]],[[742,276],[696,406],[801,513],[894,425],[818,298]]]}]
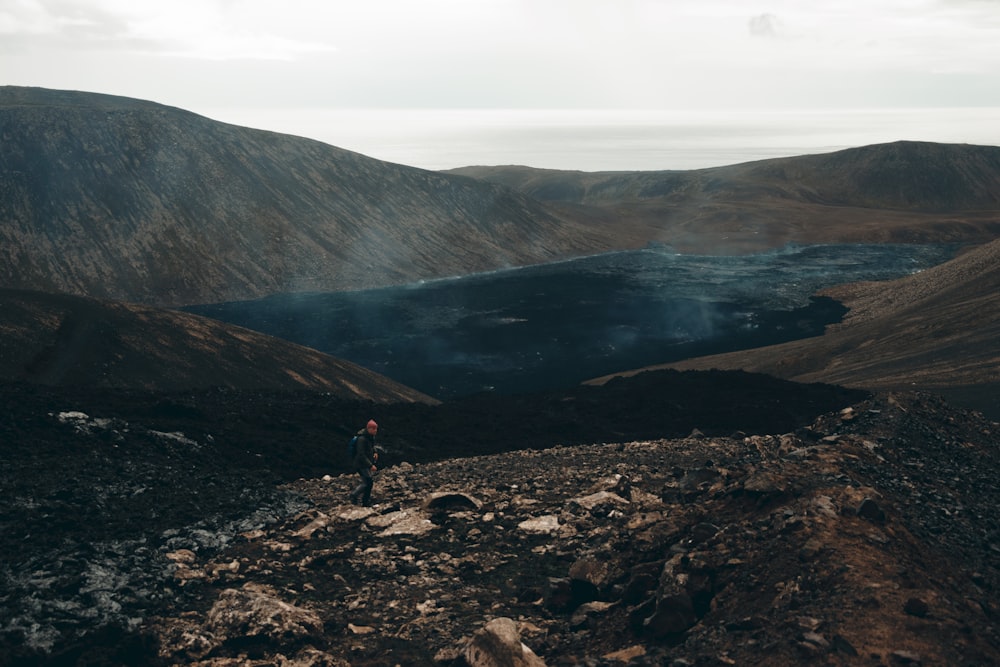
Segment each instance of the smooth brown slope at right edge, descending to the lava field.
[{"label": "smooth brown slope at right edge, descending to the lava field", "polygon": [[1000,240],[906,278],[824,294],[851,310],[819,338],[665,367],[741,368],[799,382],[931,390],[1000,413]]}]

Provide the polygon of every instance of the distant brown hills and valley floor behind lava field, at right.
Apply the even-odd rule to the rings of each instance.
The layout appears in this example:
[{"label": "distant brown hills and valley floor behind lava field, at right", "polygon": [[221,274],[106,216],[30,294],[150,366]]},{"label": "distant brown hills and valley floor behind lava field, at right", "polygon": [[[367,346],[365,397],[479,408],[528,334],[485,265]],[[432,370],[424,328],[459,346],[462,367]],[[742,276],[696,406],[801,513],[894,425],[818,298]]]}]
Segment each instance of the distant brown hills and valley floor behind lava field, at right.
[{"label": "distant brown hills and valley floor behind lava field, at right", "polygon": [[1000,148],[901,141],[693,171],[520,166],[448,173],[507,185],[682,252],[797,243],[972,242],[1000,234]]}]

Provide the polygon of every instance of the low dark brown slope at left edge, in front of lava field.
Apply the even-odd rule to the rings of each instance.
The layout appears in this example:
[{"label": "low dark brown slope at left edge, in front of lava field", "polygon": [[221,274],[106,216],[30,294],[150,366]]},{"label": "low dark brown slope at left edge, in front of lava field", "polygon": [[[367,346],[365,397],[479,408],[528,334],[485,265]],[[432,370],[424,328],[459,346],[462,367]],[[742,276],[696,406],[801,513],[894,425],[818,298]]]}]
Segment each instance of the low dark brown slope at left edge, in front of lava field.
[{"label": "low dark brown slope at left edge, in front of lava field", "polygon": [[310,390],[436,403],[355,364],[208,318],[126,303],[0,290],[0,380],[188,391]]}]

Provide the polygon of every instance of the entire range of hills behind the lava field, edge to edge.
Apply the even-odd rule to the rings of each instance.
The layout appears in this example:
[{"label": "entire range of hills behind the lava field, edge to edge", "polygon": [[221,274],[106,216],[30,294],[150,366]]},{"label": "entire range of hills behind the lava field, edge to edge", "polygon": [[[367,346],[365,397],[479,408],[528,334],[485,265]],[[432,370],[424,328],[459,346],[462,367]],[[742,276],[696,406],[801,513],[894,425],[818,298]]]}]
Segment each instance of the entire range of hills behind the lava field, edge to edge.
[{"label": "entire range of hills behind the lava field, edge to edge", "polygon": [[725,254],[1000,232],[1000,148],[981,146],[904,142],[687,172],[439,173],[150,102],[20,87],[0,88],[0,136],[0,287],[156,305],[648,243]]}]

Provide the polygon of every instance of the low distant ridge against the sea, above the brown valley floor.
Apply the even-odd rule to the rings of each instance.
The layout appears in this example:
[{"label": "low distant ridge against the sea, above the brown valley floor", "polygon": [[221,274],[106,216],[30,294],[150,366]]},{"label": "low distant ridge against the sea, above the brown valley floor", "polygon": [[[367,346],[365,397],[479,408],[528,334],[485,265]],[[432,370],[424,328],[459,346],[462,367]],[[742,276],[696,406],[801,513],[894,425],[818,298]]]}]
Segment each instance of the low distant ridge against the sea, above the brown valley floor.
[{"label": "low distant ridge against the sea, above the brown valley floor", "polygon": [[459,167],[541,201],[576,204],[723,195],[922,212],[995,210],[1000,147],[895,141],[831,153],[691,170],[583,172],[519,165]]}]

